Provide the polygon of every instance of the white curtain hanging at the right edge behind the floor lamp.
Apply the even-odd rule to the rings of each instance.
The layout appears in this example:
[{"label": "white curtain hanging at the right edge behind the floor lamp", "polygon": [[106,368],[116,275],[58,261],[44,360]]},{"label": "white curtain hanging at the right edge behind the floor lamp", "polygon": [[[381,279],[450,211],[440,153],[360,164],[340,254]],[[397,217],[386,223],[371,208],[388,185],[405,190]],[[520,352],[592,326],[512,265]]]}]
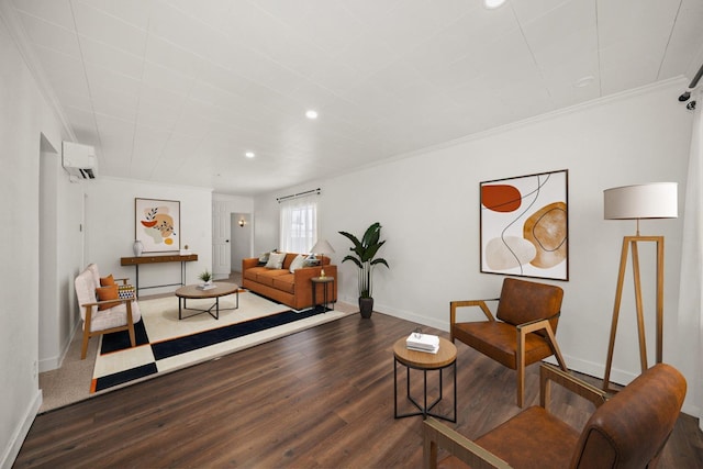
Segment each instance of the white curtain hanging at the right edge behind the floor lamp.
[{"label": "white curtain hanging at the right edge behind the floor lamp", "polygon": [[682,371],[688,375],[689,381],[687,401],[695,407],[699,426],[703,429],[703,93],[699,91],[691,100],[696,100],[698,109],[693,118],[685,185],[678,332],[682,343],[692,344],[692,349],[680,349],[678,353],[685,357],[682,359],[685,366]]}]

